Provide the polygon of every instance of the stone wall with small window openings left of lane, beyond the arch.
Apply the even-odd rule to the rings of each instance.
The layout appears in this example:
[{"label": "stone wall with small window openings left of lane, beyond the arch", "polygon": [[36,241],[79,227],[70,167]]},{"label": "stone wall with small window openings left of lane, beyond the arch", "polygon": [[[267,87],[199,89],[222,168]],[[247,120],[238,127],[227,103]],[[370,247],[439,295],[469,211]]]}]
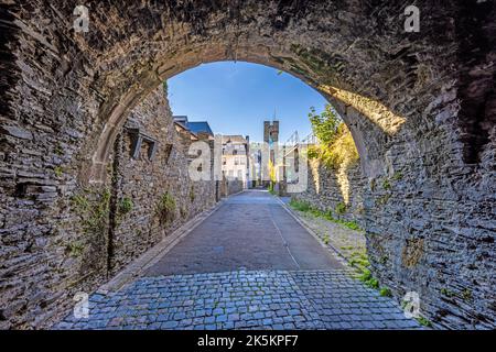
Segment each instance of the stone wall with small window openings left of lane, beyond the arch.
[{"label": "stone wall with small window openings left of lane, beyond the arch", "polygon": [[[132,136],[128,132],[131,128],[141,128],[157,139],[158,150],[152,161],[144,144],[139,158],[131,158]],[[193,182],[188,176],[190,143],[175,131],[162,87],[131,112],[112,155],[112,197],[116,198],[112,273],[215,204],[215,182]],[[175,204],[166,221],[160,207],[165,194]],[[132,204],[130,211],[122,210],[127,200]]]}]

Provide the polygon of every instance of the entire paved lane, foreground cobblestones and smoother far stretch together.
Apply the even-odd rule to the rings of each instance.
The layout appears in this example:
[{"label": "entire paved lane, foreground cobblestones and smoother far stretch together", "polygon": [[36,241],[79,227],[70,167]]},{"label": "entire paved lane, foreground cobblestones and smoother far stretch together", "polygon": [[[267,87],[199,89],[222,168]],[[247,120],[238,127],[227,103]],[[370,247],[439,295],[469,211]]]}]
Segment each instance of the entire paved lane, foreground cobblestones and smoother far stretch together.
[{"label": "entire paved lane, foreground cobblestones and smoother far stretch together", "polygon": [[231,197],[89,318],[58,329],[417,329],[389,298],[351,278],[261,191]]}]

